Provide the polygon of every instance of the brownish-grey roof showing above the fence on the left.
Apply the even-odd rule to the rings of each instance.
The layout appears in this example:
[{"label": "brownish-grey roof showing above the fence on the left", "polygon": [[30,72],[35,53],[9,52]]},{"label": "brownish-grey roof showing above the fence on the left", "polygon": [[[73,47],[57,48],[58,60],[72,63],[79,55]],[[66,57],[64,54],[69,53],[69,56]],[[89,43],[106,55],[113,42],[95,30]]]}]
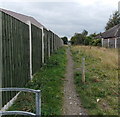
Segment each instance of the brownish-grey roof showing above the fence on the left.
[{"label": "brownish-grey roof showing above the fence on the left", "polygon": [[[31,16],[26,16],[26,15],[23,15],[23,14],[20,14],[20,13],[16,13],[16,12],[13,12],[13,11],[10,11],[10,10],[5,10],[5,9],[1,9],[0,8],[0,11],[24,22],[27,24],[28,21],[30,21],[33,25],[37,26],[38,28],[45,28],[41,23],[39,23],[36,19],[34,19],[33,17]],[[47,28],[46,28],[47,29]]]}]

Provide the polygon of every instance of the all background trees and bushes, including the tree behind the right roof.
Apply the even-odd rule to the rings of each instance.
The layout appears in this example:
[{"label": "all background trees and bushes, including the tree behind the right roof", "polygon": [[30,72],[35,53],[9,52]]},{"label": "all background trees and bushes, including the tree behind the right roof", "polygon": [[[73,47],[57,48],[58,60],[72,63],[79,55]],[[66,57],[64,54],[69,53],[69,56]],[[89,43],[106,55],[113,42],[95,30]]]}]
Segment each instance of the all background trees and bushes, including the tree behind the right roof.
[{"label": "all background trees and bushes, including the tree behind the right roof", "polygon": [[[110,28],[114,27],[115,25],[120,24],[120,13],[118,11],[115,11],[112,15],[110,15],[110,18],[105,26],[105,31],[109,30]],[[71,39],[70,43],[72,45],[92,45],[92,46],[101,46],[101,39],[97,39],[96,36],[100,35],[93,33],[88,35],[87,30],[83,30],[82,33],[75,33]],[[68,44],[68,38],[62,37],[62,40],[64,41],[64,44]]]}]

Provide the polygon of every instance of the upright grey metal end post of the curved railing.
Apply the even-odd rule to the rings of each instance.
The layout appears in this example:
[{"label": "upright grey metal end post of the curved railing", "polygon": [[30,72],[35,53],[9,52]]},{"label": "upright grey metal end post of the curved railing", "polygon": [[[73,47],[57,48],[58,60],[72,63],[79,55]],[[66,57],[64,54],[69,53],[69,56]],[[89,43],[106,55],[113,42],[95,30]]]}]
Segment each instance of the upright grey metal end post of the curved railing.
[{"label": "upright grey metal end post of the curved railing", "polygon": [[39,117],[41,115],[41,92],[36,92],[36,115]]}]

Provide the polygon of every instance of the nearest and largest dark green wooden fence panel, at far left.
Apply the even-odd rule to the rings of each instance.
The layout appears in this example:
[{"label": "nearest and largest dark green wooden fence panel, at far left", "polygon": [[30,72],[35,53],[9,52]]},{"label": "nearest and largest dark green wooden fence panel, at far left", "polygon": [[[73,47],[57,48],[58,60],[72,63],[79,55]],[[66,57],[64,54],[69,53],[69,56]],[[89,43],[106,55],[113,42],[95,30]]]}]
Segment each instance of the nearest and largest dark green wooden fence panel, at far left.
[{"label": "nearest and largest dark green wooden fence panel, at far left", "polygon": [[[2,87],[23,87],[29,73],[29,28],[10,15],[2,13]],[[3,93],[3,106],[15,93]]]}]

